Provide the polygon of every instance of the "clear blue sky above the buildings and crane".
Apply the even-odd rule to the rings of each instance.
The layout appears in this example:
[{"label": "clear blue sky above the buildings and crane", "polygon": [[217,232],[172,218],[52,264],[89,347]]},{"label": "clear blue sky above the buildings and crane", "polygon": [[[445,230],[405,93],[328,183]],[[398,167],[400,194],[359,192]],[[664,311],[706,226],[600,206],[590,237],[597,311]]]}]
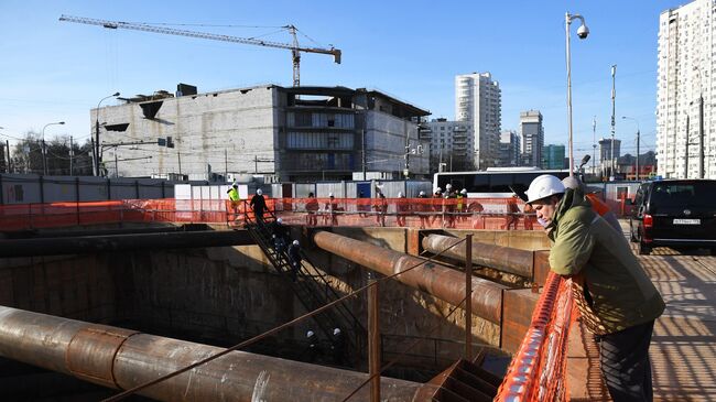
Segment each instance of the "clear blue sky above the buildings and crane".
[{"label": "clear blue sky above the buildings and crane", "polygon": [[[682,2],[683,3],[683,2]],[[679,1],[37,1],[0,2],[0,133],[40,132],[84,142],[89,109],[123,96],[199,91],[257,84],[291,85],[290,52],[182,36],[59,22],[61,14],[128,22],[280,26],[292,23],[319,45],[343,50],[343,64],[304,54],[303,85],[370,87],[453,119],[454,76],[490,72],[502,88],[502,129],[521,110],[544,116],[545,143],[566,143],[564,13],[582,13],[592,34],[572,28],[575,154],[608,135],[610,65],[617,64],[617,138],[622,153],[655,146],[659,14]],[[181,28],[181,26],[177,26]],[[183,26],[258,36],[271,28]],[[263,36],[290,42],[288,33]],[[306,37],[302,44],[315,45]],[[112,100],[106,101],[107,104]],[[106,104],[102,104],[106,105]],[[12,140],[12,139],[11,139]],[[584,151],[583,151],[584,150]]]}]

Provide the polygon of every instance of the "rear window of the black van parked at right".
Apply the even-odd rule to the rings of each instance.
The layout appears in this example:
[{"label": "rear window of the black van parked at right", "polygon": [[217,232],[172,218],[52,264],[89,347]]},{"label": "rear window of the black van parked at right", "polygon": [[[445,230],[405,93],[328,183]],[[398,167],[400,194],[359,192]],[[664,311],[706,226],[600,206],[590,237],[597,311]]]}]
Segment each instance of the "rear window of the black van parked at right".
[{"label": "rear window of the black van parked at right", "polygon": [[716,182],[657,183],[651,204],[660,209],[702,207],[716,210]]}]

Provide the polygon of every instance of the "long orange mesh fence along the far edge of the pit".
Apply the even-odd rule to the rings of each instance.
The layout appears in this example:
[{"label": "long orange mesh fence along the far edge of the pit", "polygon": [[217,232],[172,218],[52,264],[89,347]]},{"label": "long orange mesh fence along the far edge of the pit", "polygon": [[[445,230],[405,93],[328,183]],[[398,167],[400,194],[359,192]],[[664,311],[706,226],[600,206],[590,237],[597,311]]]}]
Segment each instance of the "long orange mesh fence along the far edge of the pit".
[{"label": "long orange mesh fence along the far edge of the pit", "polygon": [[[532,230],[534,215],[512,198],[267,198],[285,224]],[[247,200],[122,199],[0,206],[0,230],[115,222],[228,222],[253,220]]]}]

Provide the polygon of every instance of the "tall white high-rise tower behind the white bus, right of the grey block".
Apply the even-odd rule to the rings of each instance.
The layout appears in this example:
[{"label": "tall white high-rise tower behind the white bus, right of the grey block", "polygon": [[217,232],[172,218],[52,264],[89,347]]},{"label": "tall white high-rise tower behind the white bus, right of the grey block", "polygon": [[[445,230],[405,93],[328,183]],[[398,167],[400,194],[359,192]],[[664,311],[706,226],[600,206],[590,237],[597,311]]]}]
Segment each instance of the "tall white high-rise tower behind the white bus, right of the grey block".
[{"label": "tall white high-rise tower behind the white bus, right of the grey block", "polygon": [[455,119],[473,123],[478,170],[498,163],[501,113],[500,85],[490,73],[455,76]]}]

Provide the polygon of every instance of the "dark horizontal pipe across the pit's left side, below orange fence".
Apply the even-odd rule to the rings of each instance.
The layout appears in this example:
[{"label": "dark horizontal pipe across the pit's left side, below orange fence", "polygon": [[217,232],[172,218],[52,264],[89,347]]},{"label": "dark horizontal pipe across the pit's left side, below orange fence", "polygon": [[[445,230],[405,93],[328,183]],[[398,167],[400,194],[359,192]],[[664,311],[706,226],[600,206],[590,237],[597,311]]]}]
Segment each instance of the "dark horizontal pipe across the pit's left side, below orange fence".
[{"label": "dark horizontal pipe across the pit's left side, below orange fence", "polygon": [[0,257],[88,254],[139,249],[247,246],[256,243],[246,230],[204,230],[47,239],[0,240]]}]

